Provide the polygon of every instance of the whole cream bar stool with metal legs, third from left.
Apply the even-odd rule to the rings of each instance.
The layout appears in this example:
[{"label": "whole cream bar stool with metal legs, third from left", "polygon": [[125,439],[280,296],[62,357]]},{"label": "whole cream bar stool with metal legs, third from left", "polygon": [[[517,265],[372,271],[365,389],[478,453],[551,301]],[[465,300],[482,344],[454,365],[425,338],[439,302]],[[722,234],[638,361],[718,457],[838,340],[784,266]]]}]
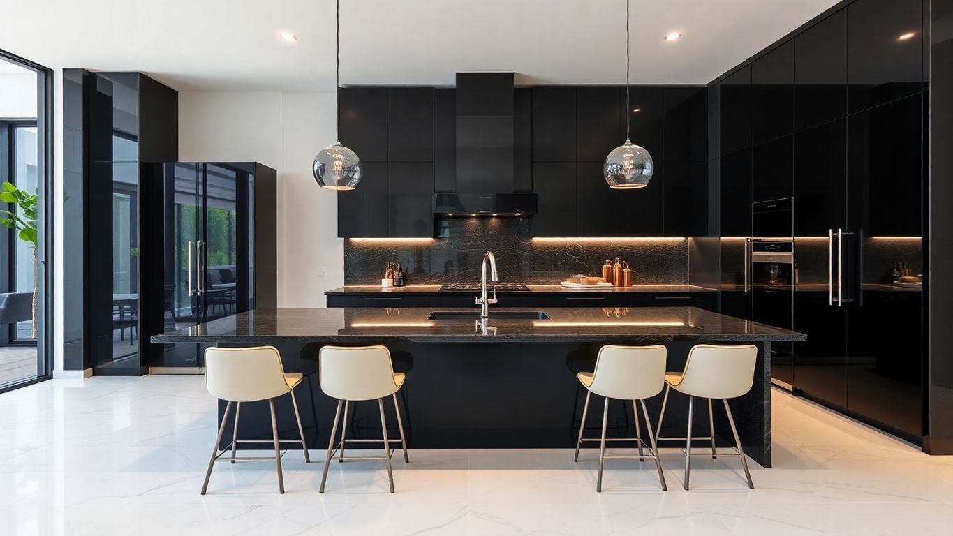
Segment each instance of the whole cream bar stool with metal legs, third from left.
[{"label": "whole cream bar stool with metal legs, third from left", "polygon": [[[636,421],[636,439],[634,441],[639,446],[639,461],[645,458],[655,458],[656,467],[659,469],[659,483],[662,490],[667,489],[665,475],[662,474],[661,462],[659,461],[659,450],[656,447],[655,436],[652,434],[652,421],[649,420],[649,413],[645,408],[645,399],[659,394],[665,385],[665,357],[666,350],[661,345],[652,347],[607,345],[599,348],[594,371],[578,373],[579,382],[583,387],[586,387],[587,392],[586,404],[582,407],[582,423],[579,425],[579,439],[576,442],[576,455],[573,461],[579,461],[579,447],[582,447],[583,441],[599,442],[597,492],[602,491],[602,466],[606,458],[636,458],[636,456],[605,455],[607,441],[633,441],[631,438],[605,438],[605,429],[609,422],[609,399],[611,398],[632,401],[632,410],[635,413]],[[592,393],[605,397],[605,404],[602,409],[602,436],[599,439],[582,437],[582,430],[586,426],[586,413],[589,411],[589,397]],[[642,407],[642,415],[645,417],[645,431],[649,434],[651,447],[645,445],[645,442],[642,441],[637,401]],[[648,448],[648,455],[644,454],[642,447]]]}]

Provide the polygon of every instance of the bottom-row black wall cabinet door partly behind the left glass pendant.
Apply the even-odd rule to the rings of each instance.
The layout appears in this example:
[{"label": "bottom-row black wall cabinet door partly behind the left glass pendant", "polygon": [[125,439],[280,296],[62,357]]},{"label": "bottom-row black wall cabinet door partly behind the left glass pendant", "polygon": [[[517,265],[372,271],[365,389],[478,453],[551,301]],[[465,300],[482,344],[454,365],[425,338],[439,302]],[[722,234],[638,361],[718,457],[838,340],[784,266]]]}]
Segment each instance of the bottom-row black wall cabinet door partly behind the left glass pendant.
[{"label": "bottom-row black wall cabinet door partly behind the left glass pendant", "polygon": [[337,236],[388,236],[387,164],[362,162],[356,189],[337,192]]}]

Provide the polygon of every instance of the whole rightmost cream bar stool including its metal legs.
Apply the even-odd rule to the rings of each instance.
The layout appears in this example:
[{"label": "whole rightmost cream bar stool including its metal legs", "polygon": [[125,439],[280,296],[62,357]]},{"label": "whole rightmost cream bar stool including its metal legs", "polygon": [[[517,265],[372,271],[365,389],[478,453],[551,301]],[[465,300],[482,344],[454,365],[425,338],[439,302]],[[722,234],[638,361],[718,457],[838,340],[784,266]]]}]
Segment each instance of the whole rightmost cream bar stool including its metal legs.
[{"label": "whole rightmost cream bar stool including its metal legs", "polygon": [[[665,416],[665,405],[668,403],[668,391],[675,389],[688,395],[688,431],[684,438],[680,437],[659,437],[661,440],[685,440],[685,489],[688,489],[688,474],[692,467],[692,440],[711,440],[711,457],[718,456],[715,450],[715,423],[712,412],[712,399],[720,398],[724,403],[725,413],[728,414],[728,424],[731,425],[731,433],[735,435],[735,445],[737,454],[728,454],[728,456],[738,456],[741,459],[741,467],[744,468],[744,476],[748,480],[748,487],[754,489],[755,485],[751,482],[751,473],[748,471],[748,462],[744,458],[744,449],[741,448],[741,440],[738,437],[738,428],[735,427],[735,419],[731,414],[731,407],[728,407],[729,398],[737,398],[751,390],[755,381],[755,362],[758,359],[758,347],[754,345],[743,346],[716,346],[716,345],[695,345],[688,351],[688,360],[685,362],[685,368],[681,372],[668,372],[665,374],[665,397],[661,402],[661,413],[659,414],[659,427],[656,430],[656,437],[659,437],[661,431],[661,420]],[[692,437],[692,410],[695,406],[696,398],[708,399],[708,437]],[[702,454],[707,456],[707,454]],[[722,454],[723,456],[723,454]]]}]

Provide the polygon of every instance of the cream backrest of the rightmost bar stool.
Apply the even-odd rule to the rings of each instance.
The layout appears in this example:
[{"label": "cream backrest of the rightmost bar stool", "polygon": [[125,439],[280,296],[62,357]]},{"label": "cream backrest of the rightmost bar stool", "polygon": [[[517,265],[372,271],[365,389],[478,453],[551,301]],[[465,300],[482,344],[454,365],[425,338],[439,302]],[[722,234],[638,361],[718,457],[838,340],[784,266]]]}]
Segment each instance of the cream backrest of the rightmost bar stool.
[{"label": "cream backrest of the rightmost bar stool", "polygon": [[695,345],[688,352],[679,391],[704,398],[735,398],[751,390],[758,347]]}]

